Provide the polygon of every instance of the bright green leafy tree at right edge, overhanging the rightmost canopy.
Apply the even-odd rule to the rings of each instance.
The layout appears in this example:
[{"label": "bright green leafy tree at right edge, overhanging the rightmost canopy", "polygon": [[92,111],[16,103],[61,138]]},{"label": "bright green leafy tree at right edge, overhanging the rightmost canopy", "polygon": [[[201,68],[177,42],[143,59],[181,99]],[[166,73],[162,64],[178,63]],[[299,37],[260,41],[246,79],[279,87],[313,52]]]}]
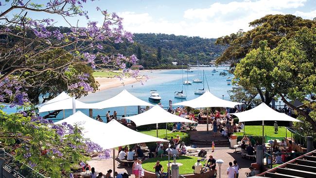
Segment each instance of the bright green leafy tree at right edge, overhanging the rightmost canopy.
[{"label": "bright green leafy tree at right edge, overhanging the rightmost canopy", "polygon": [[300,101],[316,92],[316,28],[302,28],[292,38],[282,38],[270,49],[261,41],[250,51],[234,71],[243,87],[264,89],[281,97],[282,101],[302,115],[316,131],[315,111],[293,106],[288,99]]}]

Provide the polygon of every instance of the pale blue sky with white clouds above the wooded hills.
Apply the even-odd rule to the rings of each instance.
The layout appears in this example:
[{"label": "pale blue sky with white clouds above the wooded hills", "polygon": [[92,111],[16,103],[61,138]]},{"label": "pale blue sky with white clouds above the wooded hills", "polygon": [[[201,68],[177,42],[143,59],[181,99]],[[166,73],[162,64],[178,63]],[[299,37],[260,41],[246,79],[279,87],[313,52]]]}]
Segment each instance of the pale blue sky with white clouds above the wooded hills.
[{"label": "pale blue sky with white clouds above the wooded hills", "polygon": [[[4,0],[0,0],[3,1]],[[43,3],[46,0],[35,0]],[[8,6],[9,4],[7,4]],[[0,6],[0,11],[7,6]],[[124,18],[127,31],[133,33],[165,33],[185,36],[219,37],[249,30],[248,23],[267,14],[293,14],[302,18],[316,17],[316,0],[87,0],[84,9],[89,20],[101,20],[102,10],[116,12]],[[34,13],[29,13],[35,18]],[[60,17],[55,26],[67,26]],[[38,14],[36,14],[38,18]],[[73,25],[85,26],[85,18],[71,18]]]}]

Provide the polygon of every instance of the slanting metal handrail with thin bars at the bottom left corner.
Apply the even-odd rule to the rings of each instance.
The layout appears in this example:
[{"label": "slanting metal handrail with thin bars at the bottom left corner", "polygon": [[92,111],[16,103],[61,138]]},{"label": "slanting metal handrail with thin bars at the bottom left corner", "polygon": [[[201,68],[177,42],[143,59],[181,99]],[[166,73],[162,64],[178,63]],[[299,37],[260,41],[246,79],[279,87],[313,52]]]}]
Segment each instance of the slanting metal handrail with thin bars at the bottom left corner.
[{"label": "slanting metal handrail with thin bars at the bottom left corner", "polygon": [[[4,153],[4,158],[3,158],[5,160],[4,167],[9,169],[10,171],[12,171],[11,172],[12,174],[17,175],[16,177],[25,178],[26,176],[29,176],[29,175],[22,175],[23,173],[20,172],[21,171],[21,167],[25,166],[27,169],[31,170],[35,174],[36,177],[39,176],[40,178],[46,178],[44,175],[42,175],[41,173],[35,171],[32,167],[30,167],[29,165],[25,164],[24,162],[21,162],[20,160],[17,160],[16,158],[14,158],[14,156],[10,155],[9,153],[7,153],[5,151],[3,151],[2,153]],[[12,159],[12,160],[10,161],[9,159]],[[10,163],[14,163],[13,160],[14,161],[18,161],[18,163],[22,164],[21,166],[18,166],[18,170],[10,165]]]}]

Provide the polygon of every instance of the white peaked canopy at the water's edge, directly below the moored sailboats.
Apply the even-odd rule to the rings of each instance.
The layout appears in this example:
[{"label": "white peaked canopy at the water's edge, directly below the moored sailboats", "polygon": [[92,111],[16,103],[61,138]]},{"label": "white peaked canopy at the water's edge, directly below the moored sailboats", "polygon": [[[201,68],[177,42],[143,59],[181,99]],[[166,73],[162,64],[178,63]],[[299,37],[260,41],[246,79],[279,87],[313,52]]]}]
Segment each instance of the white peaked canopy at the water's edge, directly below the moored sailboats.
[{"label": "white peaked canopy at the water's edge, directly below the moored sailboats", "polygon": [[[226,101],[214,96],[210,91],[206,91],[201,96],[180,103],[176,103],[174,105],[182,105],[188,107],[235,107],[236,105],[242,105],[242,103]],[[209,113],[207,110],[207,132],[209,132]]]}]

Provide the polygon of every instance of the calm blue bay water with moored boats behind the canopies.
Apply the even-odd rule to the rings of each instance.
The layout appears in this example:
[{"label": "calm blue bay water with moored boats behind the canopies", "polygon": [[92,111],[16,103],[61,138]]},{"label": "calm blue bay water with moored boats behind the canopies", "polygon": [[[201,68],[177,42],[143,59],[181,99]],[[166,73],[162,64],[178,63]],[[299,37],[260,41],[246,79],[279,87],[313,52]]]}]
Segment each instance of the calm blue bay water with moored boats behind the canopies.
[{"label": "calm blue bay water with moored boats behind the canopies", "polygon": [[[213,69],[216,69],[218,72],[213,73],[211,72]],[[207,67],[207,68],[192,68],[191,73],[188,73],[188,78],[192,82],[194,78],[203,79],[203,70],[206,74],[207,82],[205,82],[205,89],[209,89],[212,94],[215,96],[222,98],[222,94],[224,94],[224,99],[229,100],[228,90],[231,89],[231,85],[227,85],[226,78],[227,76],[223,77],[220,76],[219,73],[225,70],[225,67]],[[185,70],[183,70],[185,71]],[[175,98],[174,93],[175,91],[181,91],[183,86],[183,91],[187,94],[187,100],[194,99],[200,95],[194,94],[194,90],[196,89],[203,89],[202,83],[192,83],[192,85],[183,85],[182,84],[182,70],[155,70],[155,71],[141,71],[140,74],[147,75],[150,78],[144,85],[140,83],[134,83],[113,88],[113,89],[106,89],[102,91],[98,91],[96,93],[90,93],[88,96],[82,97],[79,100],[85,103],[93,103],[103,101],[105,99],[111,98],[118,93],[120,93],[123,89],[126,89],[134,96],[148,101],[149,91],[151,89],[157,89],[159,95],[161,96],[161,103],[163,106],[168,107],[169,100],[172,100],[173,103],[181,102],[181,99]],[[212,75],[213,74],[213,75]],[[183,72],[183,80],[187,79],[187,73]],[[123,100],[124,98],[122,98]],[[155,103],[153,103],[155,104]],[[83,113],[88,115],[88,109],[77,109],[82,111]],[[118,115],[124,114],[124,107],[112,107],[112,108],[105,108],[105,109],[93,109],[93,116],[97,116],[98,114],[101,116],[105,116],[107,110],[110,110],[110,114],[113,113],[114,110],[118,112]],[[42,113],[44,115],[46,113]],[[65,116],[68,117],[72,114],[72,110],[66,110]],[[137,107],[126,107],[126,114],[137,114]],[[63,112],[60,112],[57,118],[62,118]]]}]

